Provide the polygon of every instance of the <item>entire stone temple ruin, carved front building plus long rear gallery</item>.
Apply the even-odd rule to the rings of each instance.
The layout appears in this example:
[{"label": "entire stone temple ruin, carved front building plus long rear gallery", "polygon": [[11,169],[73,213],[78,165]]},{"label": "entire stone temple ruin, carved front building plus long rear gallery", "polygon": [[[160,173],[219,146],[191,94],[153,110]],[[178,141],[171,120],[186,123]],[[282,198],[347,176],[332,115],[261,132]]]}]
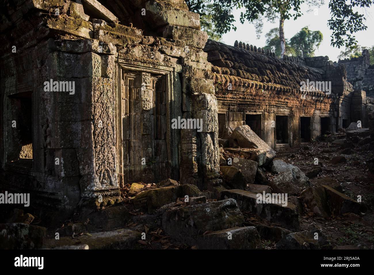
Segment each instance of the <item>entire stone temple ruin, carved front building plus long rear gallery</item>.
[{"label": "entire stone temple ruin, carved front building plus long rear gallery", "polygon": [[[247,192],[247,183],[264,176],[258,167],[284,168],[272,162],[276,154],[351,122],[373,124],[367,52],[333,63],[327,56],[279,59],[237,41],[228,46],[208,40],[184,0],[6,0],[0,6],[1,189],[30,193],[42,225],[73,217],[95,228],[124,226],[132,217],[124,206],[126,186],[162,187],[171,179],[174,185],[164,187],[170,198],[162,188],[133,192],[134,207],[146,204],[152,214],[185,195],[196,208],[215,199],[208,202],[217,215],[207,230],[239,228],[235,234],[258,237],[252,226],[240,227],[237,204],[264,216],[251,194],[270,189],[248,195],[228,186]],[[302,91],[303,81],[316,89]],[[178,118],[202,119],[202,129],[175,129],[171,121]],[[251,163],[235,164],[251,171],[246,178],[222,168],[228,167],[222,147],[248,156]],[[247,201],[239,203],[243,196]],[[297,232],[296,206],[289,205],[270,222]],[[188,207],[178,211],[180,220],[192,215]],[[222,213],[234,218],[225,222]],[[165,232],[190,245],[196,245],[191,235],[202,234],[193,227],[178,236],[184,225],[174,212],[162,221]],[[257,247],[257,237],[242,248]],[[198,243],[216,245],[208,237]]]}]

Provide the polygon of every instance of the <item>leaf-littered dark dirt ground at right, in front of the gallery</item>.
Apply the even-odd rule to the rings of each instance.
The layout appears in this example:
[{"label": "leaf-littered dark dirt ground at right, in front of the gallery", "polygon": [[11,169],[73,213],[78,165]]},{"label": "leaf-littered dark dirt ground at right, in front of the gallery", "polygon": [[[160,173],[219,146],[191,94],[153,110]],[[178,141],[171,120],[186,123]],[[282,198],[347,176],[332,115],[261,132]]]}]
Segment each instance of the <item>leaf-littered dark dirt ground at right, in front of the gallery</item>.
[{"label": "leaf-littered dark dirt ground at right, in front of the gallery", "polygon": [[[339,245],[347,246],[346,248],[373,249],[374,174],[369,172],[368,162],[373,159],[374,153],[361,151],[368,149],[368,145],[357,145],[352,148],[352,154],[344,155],[347,159],[345,163],[329,164],[332,157],[341,155],[342,150],[338,148],[339,145],[332,144],[328,140],[313,142],[281,159],[298,166],[305,172],[314,165],[315,158],[318,158],[322,162],[322,172],[318,177],[334,178],[342,186],[344,194],[354,200],[357,200],[360,195],[368,211],[359,215],[331,216],[329,219],[316,217],[311,212],[304,213],[300,219],[301,229],[308,231],[313,228],[320,229],[331,242],[331,248]],[[268,243],[266,246],[275,248],[275,244]]]}]

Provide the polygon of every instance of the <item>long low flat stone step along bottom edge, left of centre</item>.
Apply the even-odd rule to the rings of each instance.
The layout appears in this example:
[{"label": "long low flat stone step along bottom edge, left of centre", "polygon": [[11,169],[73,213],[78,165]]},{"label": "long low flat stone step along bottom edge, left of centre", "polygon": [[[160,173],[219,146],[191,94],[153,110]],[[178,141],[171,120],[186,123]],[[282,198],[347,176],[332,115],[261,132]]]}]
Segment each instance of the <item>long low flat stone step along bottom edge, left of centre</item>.
[{"label": "long low flat stone step along bottom edge, left of centre", "polygon": [[114,231],[102,231],[90,233],[91,236],[81,235],[74,239],[71,237],[61,237],[55,240],[46,239],[43,248],[62,249],[67,246],[86,244],[89,249],[130,249],[137,241],[141,240],[141,233],[131,229],[117,229]]}]

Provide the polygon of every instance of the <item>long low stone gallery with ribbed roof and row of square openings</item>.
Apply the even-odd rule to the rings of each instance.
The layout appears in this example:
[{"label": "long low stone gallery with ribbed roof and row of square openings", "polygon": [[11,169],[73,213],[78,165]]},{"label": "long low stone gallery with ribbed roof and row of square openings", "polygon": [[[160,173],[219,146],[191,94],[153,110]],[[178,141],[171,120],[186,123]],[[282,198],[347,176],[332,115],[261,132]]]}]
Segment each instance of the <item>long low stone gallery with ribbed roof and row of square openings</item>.
[{"label": "long low stone gallery with ribbed roof and row of square openings", "polygon": [[[208,40],[204,51],[212,63],[218,109],[226,114],[226,125],[237,127],[246,124],[246,115],[261,115],[261,135],[273,148],[277,117],[279,121],[287,117],[288,129],[278,130],[288,131],[286,143],[291,148],[301,144],[300,117],[310,118],[312,139],[321,136],[321,118],[329,118],[330,132],[343,127],[343,118],[350,119],[352,85],[344,66],[335,67],[327,56],[279,59],[237,41],[228,46]],[[307,80],[328,81],[331,94],[318,89],[301,91],[302,81]]]}]

